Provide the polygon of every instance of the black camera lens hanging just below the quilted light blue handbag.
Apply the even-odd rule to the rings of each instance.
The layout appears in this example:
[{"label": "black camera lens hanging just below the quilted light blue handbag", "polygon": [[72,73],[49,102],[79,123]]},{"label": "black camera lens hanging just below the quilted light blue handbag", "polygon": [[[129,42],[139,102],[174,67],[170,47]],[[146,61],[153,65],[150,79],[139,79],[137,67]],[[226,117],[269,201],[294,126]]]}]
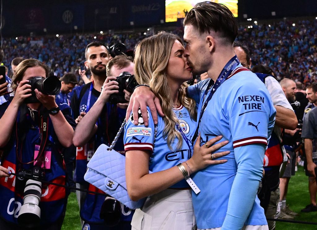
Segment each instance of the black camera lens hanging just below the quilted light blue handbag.
[{"label": "black camera lens hanging just below the quilted light blue handbag", "polygon": [[106,197],[101,206],[99,217],[109,227],[118,225],[121,217],[121,203],[113,197]]}]

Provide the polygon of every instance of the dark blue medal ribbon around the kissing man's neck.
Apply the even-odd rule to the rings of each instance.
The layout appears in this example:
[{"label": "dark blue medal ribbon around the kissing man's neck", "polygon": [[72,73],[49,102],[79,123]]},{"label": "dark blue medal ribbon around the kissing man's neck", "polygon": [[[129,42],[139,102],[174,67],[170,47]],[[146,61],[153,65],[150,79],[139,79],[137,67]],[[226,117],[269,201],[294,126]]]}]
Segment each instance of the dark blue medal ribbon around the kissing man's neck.
[{"label": "dark blue medal ribbon around the kissing man's neck", "polygon": [[206,95],[209,93],[207,99],[205,100],[204,105],[202,106],[201,110],[200,110],[200,114],[199,114],[199,119],[198,119],[198,124],[197,124],[197,128],[195,131],[195,134],[193,136],[193,139],[191,140],[192,143],[195,142],[197,136],[198,136],[198,130],[199,130],[199,126],[200,126],[200,122],[201,122],[201,118],[203,117],[203,114],[206,110],[206,107],[208,105],[208,102],[210,101],[210,99],[212,98],[212,96],[215,94],[217,88],[220,87],[220,85],[230,76],[230,74],[232,73],[232,71],[234,69],[236,69],[236,67],[240,64],[239,59],[237,58],[237,56],[235,55],[234,57],[232,57],[229,62],[223,67],[223,70],[221,71],[221,73],[219,74],[216,82],[213,82],[210,79],[210,82],[208,84],[208,87],[204,93],[204,97],[203,100],[205,99]]}]

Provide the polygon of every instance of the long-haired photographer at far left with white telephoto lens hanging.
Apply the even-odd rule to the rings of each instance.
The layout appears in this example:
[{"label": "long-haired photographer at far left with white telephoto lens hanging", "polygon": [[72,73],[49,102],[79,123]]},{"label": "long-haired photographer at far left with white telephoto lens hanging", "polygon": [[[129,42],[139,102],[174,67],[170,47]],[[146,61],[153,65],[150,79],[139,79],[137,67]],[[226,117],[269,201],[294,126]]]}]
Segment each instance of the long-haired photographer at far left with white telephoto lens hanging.
[{"label": "long-haired photographer at far left with white telephoto lens hanging", "polygon": [[75,123],[70,107],[55,101],[60,83],[48,72],[36,59],[21,62],[15,96],[0,106],[0,229],[61,229],[68,191],[38,179],[65,185],[61,149],[72,144]]}]

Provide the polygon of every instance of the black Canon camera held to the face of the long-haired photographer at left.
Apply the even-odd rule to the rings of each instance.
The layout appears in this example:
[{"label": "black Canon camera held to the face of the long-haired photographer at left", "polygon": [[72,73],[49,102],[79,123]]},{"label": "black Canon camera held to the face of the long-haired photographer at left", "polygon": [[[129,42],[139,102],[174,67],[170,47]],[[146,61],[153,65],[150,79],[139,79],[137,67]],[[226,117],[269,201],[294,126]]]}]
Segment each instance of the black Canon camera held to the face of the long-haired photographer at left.
[{"label": "black Canon camera held to the face of the long-haired photographer at left", "polygon": [[32,96],[24,100],[25,104],[40,102],[35,95],[35,89],[46,95],[57,95],[61,91],[61,81],[54,76],[54,73],[50,73],[47,78],[38,76],[29,79],[26,84],[31,85]]}]

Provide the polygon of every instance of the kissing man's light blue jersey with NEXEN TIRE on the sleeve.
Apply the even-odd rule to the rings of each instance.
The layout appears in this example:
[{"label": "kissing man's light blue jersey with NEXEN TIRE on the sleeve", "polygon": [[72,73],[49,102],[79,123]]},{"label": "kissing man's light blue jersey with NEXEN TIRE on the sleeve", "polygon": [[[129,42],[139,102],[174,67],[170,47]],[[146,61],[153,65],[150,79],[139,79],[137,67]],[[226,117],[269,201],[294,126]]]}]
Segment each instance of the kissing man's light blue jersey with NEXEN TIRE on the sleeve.
[{"label": "kissing man's light blue jersey with NEXEN TIRE on the sleeve", "polygon": [[[258,185],[261,179],[264,146],[267,145],[272,132],[276,110],[263,82],[251,71],[241,68],[243,67],[239,64],[231,76],[217,89],[201,119],[200,145],[215,136],[223,135],[221,141],[228,140],[229,143],[216,152],[229,150],[230,154],[219,158],[227,159],[228,162],[208,166],[192,176],[193,181],[201,190],[197,195],[192,193],[197,228],[200,229],[222,227],[227,212],[232,215],[233,209],[235,211],[241,209],[243,202],[245,202],[243,199],[236,199],[238,201],[234,204],[231,203],[231,207],[228,207],[229,199],[249,194],[248,188],[245,191],[234,191],[230,194],[234,179],[239,173],[237,172],[238,165],[241,169],[240,173],[248,172],[249,168],[252,171],[252,163],[249,166],[245,166],[244,163],[247,161],[246,159],[251,159],[251,161],[257,162],[255,165],[257,171],[255,170],[256,173],[254,173],[256,176],[244,174],[241,177],[240,174],[235,183],[239,181],[239,183],[247,185],[253,179],[253,182],[255,181]],[[239,70],[243,71],[239,72]],[[205,102],[204,92],[199,89],[206,89],[209,82],[210,79],[199,82],[197,86],[195,85],[187,91],[199,97],[198,117]],[[209,93],[205,98],[208,95]],[[254,144],[260,144],[260,146]],[[254,151],[254,147],[260,151]],[[246,151],[246,148],[249,151]],[[243,155],[240,154],[242,149]],[[243,178],[246,177],[251,179],[243,181]],[[251,199],[249,200],[251,202],[250,208],[252,207],[250,214],[248,215],[245,210],[240,210],[239,215],[245,215],[243,212],[247,212],[248,217],[245,225],[266,225],[264,210],[260,207],[259,199],[255,197],[254,190],[257,188],[252,188],[253,198],[246,197],[247,200]]]}]

